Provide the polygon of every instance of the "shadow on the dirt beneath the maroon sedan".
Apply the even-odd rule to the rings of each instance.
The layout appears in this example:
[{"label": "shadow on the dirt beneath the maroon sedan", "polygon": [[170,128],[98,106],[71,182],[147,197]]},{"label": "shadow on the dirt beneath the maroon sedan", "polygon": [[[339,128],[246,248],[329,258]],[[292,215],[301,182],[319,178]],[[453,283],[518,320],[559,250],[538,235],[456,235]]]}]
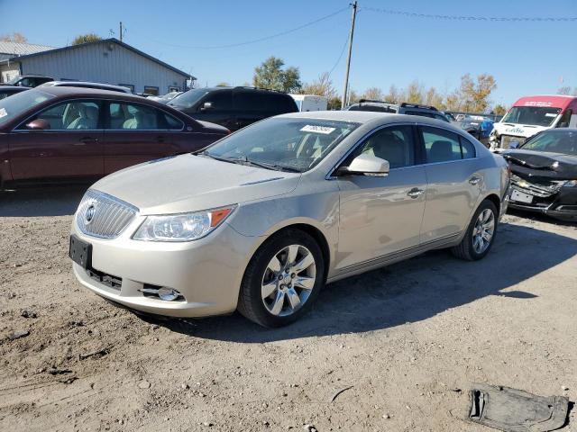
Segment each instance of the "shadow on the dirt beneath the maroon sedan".
[{"label": "shadow on the dirt beneath the maroon sedan", "polygon": [[87,188],[87,184],[78,184],[0,192],[0,217],[74,214]]}]

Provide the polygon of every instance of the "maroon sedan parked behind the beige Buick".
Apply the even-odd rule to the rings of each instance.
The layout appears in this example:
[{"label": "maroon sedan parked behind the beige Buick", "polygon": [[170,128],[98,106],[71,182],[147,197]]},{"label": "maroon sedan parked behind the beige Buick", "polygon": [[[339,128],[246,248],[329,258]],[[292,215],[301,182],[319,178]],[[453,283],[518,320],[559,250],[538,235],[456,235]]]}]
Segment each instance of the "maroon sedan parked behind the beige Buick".
[{"label": "maroon sedan parked behind the beige Buick", "polygon": [[34,88],[0,100],[0,186],[94,180],[228,133],[133,94]]}]

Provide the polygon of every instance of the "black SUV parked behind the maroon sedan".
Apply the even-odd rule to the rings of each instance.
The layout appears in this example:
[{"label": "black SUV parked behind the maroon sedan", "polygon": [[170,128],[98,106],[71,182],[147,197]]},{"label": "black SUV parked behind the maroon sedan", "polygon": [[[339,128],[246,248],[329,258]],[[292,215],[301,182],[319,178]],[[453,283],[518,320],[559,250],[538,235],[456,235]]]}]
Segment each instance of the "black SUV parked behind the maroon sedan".
[{"label": "black SUV parked behind the maroon sedan", "polygon": [[298,112],[289,94],[254,87],[195,88],[180,94],[169,106],[196,120],[210,121],[228,130],[286,112]]}]

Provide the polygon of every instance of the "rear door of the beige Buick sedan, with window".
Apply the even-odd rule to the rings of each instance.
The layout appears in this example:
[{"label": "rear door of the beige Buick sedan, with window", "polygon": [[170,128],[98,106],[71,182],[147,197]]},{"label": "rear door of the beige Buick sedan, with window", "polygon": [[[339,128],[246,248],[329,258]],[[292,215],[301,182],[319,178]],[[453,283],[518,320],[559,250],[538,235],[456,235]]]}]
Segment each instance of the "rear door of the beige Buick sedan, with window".
[{"label": "rear door of the beige Buick sedan, with window", "polygon": [[428,184],[421,229],[425,243],[450,238],[467,227],[483,184],[469,139],[430,126],[418,126],[417,130]]}]

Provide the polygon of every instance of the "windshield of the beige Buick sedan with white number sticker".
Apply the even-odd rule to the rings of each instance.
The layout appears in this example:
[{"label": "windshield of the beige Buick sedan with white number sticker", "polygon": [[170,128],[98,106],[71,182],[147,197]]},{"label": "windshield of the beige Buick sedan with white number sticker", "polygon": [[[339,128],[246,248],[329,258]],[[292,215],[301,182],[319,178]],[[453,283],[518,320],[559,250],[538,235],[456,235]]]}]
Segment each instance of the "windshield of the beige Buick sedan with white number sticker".
[{"label": "windshield of the beige Buick sedan with white number sticker", "polygon": [[358,126],[350,121],[273,118],[239,130],[201,154],[279,171],[305,172]]}]

